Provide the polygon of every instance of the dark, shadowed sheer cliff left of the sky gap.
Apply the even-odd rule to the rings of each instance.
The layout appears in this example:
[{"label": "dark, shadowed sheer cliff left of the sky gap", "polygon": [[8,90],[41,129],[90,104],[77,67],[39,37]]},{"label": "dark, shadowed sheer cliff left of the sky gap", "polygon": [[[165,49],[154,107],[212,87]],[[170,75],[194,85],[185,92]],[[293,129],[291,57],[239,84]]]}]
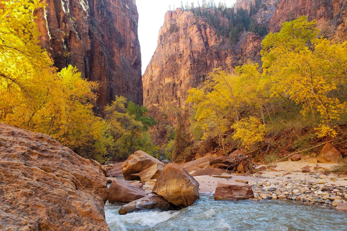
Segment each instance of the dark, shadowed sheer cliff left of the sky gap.
[{"label": "dark, shadowed sheer cliff left of the sky gap", "polygon": [[135,0],[42,0],[36,10],[41,45],[54,65],[76,65],[100,84],[98,106],[116,95],[142,104],[141,52]]}]

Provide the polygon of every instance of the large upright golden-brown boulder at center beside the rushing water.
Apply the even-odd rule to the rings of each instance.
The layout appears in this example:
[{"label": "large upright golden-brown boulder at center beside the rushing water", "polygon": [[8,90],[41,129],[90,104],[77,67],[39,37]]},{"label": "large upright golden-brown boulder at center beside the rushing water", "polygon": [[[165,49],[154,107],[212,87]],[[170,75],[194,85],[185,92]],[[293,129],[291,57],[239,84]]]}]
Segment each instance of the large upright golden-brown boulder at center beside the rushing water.
[{"label": "large upright golden-brown boulder at center beside the rushing water", "polygon": [[192,205],[199,198],[199,183],[176,163],[165,165],[156,180],[153,193],[179,208]]}]

